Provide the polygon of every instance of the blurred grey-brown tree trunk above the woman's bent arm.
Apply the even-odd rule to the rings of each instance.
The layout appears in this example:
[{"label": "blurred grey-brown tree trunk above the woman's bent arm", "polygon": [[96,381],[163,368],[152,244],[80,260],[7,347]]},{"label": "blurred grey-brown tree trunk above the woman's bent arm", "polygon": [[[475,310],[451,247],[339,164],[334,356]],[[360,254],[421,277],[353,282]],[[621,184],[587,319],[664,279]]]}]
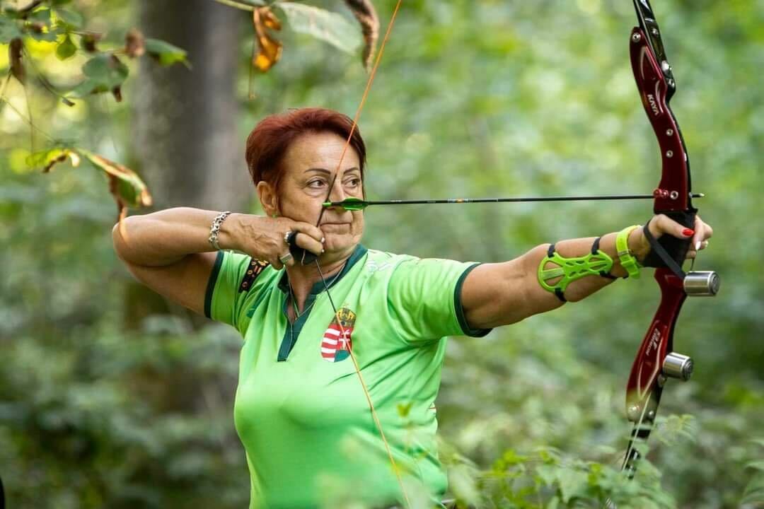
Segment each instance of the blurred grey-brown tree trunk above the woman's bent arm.
[{"label": "blurred grey-brown tree trunk above the woman's bent arm", "polygon": [[193,69],[141,59],[134,98],[136,167],[158,209],[243,211],[252,186],[238,135],[239,27],[245,14],[210,0],[142,0],[146,37],[188,51]]}]

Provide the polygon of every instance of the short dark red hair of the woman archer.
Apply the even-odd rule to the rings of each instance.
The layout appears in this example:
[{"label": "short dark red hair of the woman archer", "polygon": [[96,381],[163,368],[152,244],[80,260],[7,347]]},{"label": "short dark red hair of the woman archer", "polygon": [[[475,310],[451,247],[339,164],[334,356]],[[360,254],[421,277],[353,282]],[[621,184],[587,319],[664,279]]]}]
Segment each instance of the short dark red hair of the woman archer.
[{"label": "short dark red hair of the woman archer", "polygon": [[[335,133],[347,140],[353,121],[345,114],[324,108],[299,108],[274,114],[258,123],[247,137],[244,158],[252,182],[265,181],[277,191],[283,177],[281,161],[286,150],[298,137],[306,133]],[[353,130],[350,146],[358,154],[361,180],[366,166],[366,145],[358,126]]]}]

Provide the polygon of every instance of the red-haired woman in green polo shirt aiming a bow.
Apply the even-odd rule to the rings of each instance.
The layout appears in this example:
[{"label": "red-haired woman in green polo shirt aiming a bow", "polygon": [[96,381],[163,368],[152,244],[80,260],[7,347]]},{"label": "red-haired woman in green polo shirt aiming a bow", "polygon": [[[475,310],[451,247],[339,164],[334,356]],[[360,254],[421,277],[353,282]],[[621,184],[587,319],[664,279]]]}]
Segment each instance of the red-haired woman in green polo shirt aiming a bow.
[{"label": "red-haired woman in green polo shirt aiming a bow", "polygon": [[[384,507],[416,490],[439,501],[434,401],[446,337],[482,337],[580,301],[637,275],[650,252],[637,226],[503,263],[367,249],[363,211],[323,205],[364,197],[364,141],[335,111],[265,118],[246,161],[264,215],[172,208],[128,217],[113,238],[138,280],[244,338],[234,417],[250,507],[336,504],[332,493]],[[688,258],[712,233],[699,218],[690,229],[663,215],[647,228],[685,240]],[[294,246],[318,263],[297,263]],[[585,270],[540,277],[574,259]]]}]

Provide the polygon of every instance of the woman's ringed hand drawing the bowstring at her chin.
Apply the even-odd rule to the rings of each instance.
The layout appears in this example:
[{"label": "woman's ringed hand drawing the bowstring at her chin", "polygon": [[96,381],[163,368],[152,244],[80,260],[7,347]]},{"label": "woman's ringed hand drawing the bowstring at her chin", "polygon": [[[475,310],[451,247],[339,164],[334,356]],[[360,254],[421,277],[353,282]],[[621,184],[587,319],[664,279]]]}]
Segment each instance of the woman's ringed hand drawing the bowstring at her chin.
[{"label": "woman's ringed hand drawing the bowstring at her chin", "polygon": [[[231,217],[223,222],[221,235],[224,234],[224,230],[228,230],[228,242],[221,242],[222,246],[228,244],[231,249],[264,260],[277,270],[284,266],[280,256],[289,253],[290,246],[284,241],[284,237],[290,231],[298,233],[295,237],[297,246],[316,256],[321,256],[324,251],[324,234],[319,227],[292,221],[286,217],[231,214]],[[290,258],[286,265],[293,266],[295,263],[295,260]]]}]

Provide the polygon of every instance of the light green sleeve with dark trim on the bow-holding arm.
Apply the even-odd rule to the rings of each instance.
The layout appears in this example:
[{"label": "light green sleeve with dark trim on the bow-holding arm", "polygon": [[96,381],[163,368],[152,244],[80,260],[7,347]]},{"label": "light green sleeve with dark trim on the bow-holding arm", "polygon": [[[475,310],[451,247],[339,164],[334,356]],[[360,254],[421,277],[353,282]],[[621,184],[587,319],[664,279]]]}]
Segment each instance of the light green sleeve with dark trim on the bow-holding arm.
[{"label": "light green sleeve with dark trim on the bow-holding arm", "polygon": [[490,329],[473,329],[461,306],[461,286],[478,263],[450,259],[406,259],[398,264],[387,289],[390,313],[410,343],[445,336],[482,337]]}]

